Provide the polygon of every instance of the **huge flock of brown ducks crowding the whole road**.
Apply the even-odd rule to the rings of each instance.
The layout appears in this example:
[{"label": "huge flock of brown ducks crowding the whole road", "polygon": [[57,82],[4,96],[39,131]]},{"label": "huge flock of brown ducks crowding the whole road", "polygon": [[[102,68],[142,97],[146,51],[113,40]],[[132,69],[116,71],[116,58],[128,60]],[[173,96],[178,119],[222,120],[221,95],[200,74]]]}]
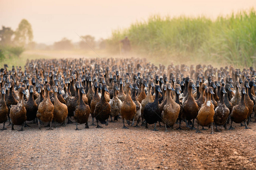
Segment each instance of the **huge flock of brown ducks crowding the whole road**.
[{"label": "huge flock of brown ducks crowding the whole road", "polygon": [[[255,75],[253,67],[214,68],[198,64],[168,67],[149,64],[146,59],[40,59],[27,61],[25,69],[4,64],[0,70],[0,123],[28,127],[26,121],[40,125],[52,122],[65,126],[85,123],[91,114],[97,128],[122,119],[123,128],[157,123],[201,133],[218,126],[233,130],[233,122],[248,129],[255,115]],[[120,117],[121,116],[121,117]],[[66,119],[68,119],[66,121]],[[194,122],[197,121],[197,128]],[[126,122],[126,123],[125,123]],[[141,124],[140,124],[141,122]],[[244,124],[242,124],[242,122]],[[255,121],[256,122],[256,119]],[[31,123],[31,122],[30,122]],[[136,124],[136,125],[135,125]],[[140,124],[140,125],[139,125]]]}]

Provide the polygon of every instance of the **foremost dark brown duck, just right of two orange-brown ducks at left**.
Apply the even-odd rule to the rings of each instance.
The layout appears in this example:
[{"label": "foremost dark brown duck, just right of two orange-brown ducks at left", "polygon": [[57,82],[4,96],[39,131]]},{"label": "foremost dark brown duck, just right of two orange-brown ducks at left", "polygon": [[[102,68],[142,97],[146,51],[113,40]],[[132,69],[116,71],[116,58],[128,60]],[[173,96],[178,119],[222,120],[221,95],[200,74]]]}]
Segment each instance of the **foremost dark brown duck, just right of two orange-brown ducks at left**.
[{"label": "foremost dark brown duck, just right of two orange-brown ducks at left", "polygon": [[[88,119],[90,116],[90,107],[85,104],[83,101],[83,94],[85,94],[84,87],[81,86],[79,89],[79,105],[76,107],[75,113],[74,113],[74,119],[76,120],[76,126],[77,124],[83,124],[85,123],[85,128],[89,128],[88,125]],[[88,93],[87,93],[88,94]],[[76,128],[75,130],[81,130]]]}]

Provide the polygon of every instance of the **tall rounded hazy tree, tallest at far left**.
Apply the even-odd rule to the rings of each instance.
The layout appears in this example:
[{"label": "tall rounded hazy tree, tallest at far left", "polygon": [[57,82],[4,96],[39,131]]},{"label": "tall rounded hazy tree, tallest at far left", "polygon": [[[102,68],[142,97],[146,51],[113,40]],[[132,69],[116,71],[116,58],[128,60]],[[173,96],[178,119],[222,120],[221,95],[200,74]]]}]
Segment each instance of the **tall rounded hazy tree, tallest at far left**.
[{"label": "tall rounded hazy tree, tallest at far left", "polygon": [[19,23],[18,28],[15,31],[15,43],[19,45],[26,45],[33,40],[33,31],[31,24],[26,20],[23,19]]}]

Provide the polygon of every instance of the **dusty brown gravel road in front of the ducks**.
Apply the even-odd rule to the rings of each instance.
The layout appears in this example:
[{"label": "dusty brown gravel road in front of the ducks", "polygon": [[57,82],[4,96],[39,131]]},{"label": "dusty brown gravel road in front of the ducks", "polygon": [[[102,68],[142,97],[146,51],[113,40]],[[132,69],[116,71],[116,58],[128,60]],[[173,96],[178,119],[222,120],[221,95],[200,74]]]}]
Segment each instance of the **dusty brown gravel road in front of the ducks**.
[{"label": "dusty brown gravel road in front of the ducks", "polygon": [[252,129],[234,123],[235,130],[213,135],[196,134],[184,122],[184,130],[170,132],[151,131],[153,125],[122,129],[121,119],[79,131],[75,124],[20,127],[0,131],[0,169],[256,169],[256,123]]}]

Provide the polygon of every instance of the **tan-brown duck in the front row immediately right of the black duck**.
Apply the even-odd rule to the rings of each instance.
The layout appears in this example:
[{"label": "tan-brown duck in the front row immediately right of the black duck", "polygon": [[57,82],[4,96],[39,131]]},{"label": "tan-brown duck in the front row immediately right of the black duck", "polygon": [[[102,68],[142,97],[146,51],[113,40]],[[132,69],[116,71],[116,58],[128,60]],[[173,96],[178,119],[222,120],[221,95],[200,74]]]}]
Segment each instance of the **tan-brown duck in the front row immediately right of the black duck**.
[{"label": "tan-brown duck in the front row immediately right of the black duck", "polygon": [[[179,91],[179,87],[177,87]],[[172,98],[171,98],[171,90],[174,90],[171,86],[170,83],[167,84],[167,103],[163,108],[162,112],[162,122],[164,123],[165,126],[165,131],[167,132],[166,125],[170,126],[173,128],[174,123],[179,117],[179,111],[180,111],[180,106],[178,103],[176,103]],[[175,91],[177,94],[179,93],[178,91]]]}]

